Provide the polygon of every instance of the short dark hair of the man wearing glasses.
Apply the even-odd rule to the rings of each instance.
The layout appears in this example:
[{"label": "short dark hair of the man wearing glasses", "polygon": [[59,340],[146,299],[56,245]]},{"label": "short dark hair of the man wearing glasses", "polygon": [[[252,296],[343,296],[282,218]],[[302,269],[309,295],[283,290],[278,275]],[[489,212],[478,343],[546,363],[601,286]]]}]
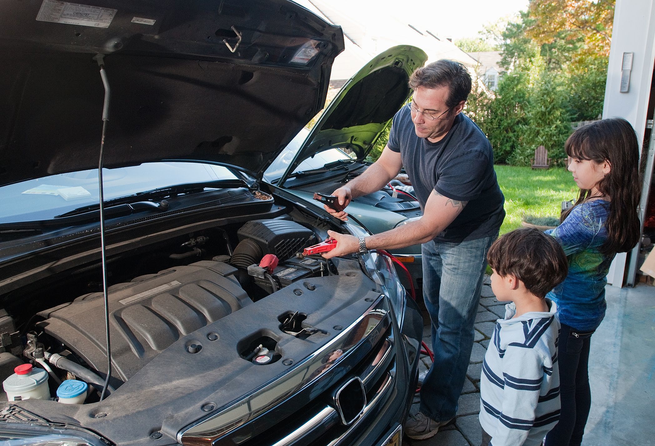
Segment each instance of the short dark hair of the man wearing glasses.
[{"label": "short dark hair of the man wearing glasses", "polygon": [[466,101],[471,92],[471,75],[464,64],[454,60],[440,59],[424,67],[414,70],[409,77],[409,88],[448,87],[448,108],[455,107],[461,101]]}]

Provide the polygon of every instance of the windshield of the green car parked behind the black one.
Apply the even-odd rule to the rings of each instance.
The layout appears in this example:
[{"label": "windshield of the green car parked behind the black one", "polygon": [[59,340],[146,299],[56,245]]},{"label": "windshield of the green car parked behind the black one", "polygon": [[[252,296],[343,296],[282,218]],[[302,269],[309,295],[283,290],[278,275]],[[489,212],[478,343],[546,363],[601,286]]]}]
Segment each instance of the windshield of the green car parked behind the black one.
[{"label": "windshield of the green car parked behind the black one", "polygon": [[[264,180],[268,182],[276,182],[278,179],[280,179],[280,177],[282,177],[284,171],[287,169],[287,167],[289,167],[291,161],[293,161],[293,157],[298,152],[298,150],[300,150],[301,146],[305,142],[305,139],[307,139],[308,134],[309,130],[303,128],[297,135],[295,135],[295,137],[293,137],[291,142],[284,148],[284,150],[282,150],[278,157],[275,158],[271,165],[269,165],[269,168],[266,169],[264,172]],[[328,148],[327,150],[319,152],[314,156],[310,156],[310,158],[307,158],[307,160],[301,162],[292,173],[298,171],[320,169],[328,163],[333,163],[339,160],[352,159],[353,158],[348,156],[348,154],[343,152],[343,150],[338,148]]]}]

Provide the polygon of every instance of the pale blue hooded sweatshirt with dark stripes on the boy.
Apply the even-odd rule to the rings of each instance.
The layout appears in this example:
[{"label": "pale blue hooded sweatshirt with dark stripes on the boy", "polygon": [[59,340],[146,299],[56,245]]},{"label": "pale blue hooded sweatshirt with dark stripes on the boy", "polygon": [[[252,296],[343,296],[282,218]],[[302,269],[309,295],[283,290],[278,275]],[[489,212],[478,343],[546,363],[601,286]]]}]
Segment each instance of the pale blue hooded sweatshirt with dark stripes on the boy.
[{"label": "pale blue hooded sweatshirt with dark stripes on the boy", "polygon": [[557,307],[514,317],[505,306],[489,342],[480,379],[480,424],[490,446],[540,445],[559,420]]}]

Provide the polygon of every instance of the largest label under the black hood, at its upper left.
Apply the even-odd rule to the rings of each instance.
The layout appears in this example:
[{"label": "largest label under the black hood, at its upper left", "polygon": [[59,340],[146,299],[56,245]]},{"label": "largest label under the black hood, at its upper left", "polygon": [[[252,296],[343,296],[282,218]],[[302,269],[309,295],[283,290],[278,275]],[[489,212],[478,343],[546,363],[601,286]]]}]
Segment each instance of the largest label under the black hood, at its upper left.
[{"label": "largest label under the black hood, at its upper left", "polygon": [[79,5],[79,3],[69,3],[67,1],[43,0],[39,14],[37,14],[37,20],[107,28],[116,12],[118,12],[117,9]]}]

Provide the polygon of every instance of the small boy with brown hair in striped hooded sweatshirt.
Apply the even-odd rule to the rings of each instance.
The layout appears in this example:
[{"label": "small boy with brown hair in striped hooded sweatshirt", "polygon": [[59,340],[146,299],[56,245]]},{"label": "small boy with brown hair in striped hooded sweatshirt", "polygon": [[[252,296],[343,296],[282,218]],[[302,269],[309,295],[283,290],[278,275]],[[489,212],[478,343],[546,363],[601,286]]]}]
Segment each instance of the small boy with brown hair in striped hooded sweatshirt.
[{"label": "small boy with brown hair in striped hooded sweatshirt", "polygon": [[491,289],[509,300],[482,364],[482,445],[540,445],[559,420],[555,303],[545,298],[567,276],[555,238],[532,228],[506,233],[487,254]]}]

